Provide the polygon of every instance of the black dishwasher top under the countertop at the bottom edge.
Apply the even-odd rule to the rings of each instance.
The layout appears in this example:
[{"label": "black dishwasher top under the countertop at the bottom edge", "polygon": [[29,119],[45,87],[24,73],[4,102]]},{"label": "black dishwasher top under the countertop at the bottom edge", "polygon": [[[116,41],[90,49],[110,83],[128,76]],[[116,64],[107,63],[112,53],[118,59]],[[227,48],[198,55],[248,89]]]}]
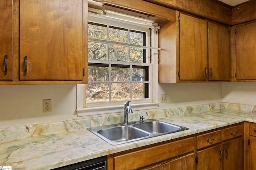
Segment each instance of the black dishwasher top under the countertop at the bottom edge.
[{"label": "black dishwasher top under the countertop at the bottom edge", "polygon": [[76,164],[55,168],[53,170],[106,170],[107,169],[107,156],[86,160]]}]

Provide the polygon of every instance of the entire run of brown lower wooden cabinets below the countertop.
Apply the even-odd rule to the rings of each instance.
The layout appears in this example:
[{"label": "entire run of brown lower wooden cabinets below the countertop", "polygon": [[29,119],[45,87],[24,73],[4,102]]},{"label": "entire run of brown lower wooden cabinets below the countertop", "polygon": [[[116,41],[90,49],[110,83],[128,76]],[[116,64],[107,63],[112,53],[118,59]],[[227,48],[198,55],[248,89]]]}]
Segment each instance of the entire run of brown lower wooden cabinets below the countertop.
[{"label": "entire run of brown lower wooden cabinets below the countertop", "polygon": [[[256,126],[253,133],[250,162],[256,170]],[[118,152],[108,155],[108,170],[243,170],[243,135],[244,125],[238,124],[153,147]]]}]

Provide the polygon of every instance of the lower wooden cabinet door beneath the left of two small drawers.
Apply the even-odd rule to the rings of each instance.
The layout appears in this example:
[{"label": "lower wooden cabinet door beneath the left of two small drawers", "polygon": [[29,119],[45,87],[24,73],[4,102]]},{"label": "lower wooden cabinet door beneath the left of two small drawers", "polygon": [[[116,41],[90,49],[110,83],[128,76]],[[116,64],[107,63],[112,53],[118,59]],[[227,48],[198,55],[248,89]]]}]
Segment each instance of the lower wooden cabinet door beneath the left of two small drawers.
[{"label": "lower wooden cabinet door beneath the left of two small drawers", "polygon": [[221,170],[222,168],[222,145],[216,145],[197,152],[198,170]]}]

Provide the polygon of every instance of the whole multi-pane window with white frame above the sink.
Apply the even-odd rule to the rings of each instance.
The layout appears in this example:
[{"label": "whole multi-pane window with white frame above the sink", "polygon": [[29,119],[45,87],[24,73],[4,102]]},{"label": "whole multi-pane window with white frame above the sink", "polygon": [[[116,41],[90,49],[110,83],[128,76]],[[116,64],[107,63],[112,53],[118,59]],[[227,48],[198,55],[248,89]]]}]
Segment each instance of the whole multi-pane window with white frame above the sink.
[{"label": "whole multi-pane window with white frame above the sink", "polygon": [[[78,102],[82,99],[83,104],[78,104],[77,111],[90,111],[82,115],[94,114],[94,110],[108,113],[115,107],[114,112],[120,112],[128,100],[138,109],[149,108],[156,102],[152,80],[158,82],[158,73],[152,71],[157,63],[152,63],[157,49],[152,48],[152,39],[157,39],[157,29],[103,17],[89,14],[88,84],[78,85],[78,93],[83,93],[78,94]],[[106,111],[106,107],[111,109]]]}]

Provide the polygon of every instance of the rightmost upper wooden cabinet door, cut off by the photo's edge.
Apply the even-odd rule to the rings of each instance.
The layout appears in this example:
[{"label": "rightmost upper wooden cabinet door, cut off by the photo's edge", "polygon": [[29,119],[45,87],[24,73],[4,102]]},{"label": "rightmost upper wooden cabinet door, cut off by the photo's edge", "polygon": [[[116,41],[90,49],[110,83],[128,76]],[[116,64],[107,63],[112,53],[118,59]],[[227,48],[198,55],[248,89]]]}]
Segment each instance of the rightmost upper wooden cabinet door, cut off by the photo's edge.
[{"label": "rightmost upper wooden cabinet door, cut off by the photo's edge", "polygon": [[236,79],[256,79],[256,23],[236,27]]}]

